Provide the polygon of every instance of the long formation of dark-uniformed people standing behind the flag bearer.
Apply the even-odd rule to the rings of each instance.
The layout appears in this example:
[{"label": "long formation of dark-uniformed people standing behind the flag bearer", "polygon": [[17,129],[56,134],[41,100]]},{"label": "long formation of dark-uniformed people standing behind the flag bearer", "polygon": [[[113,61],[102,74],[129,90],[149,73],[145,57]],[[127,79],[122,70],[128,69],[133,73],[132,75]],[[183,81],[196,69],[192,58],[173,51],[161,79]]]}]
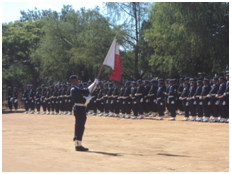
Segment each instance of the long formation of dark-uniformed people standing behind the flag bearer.
[{"label": "long formation of dark-uniformed people standing behind the flag bearer", "polygon": [[[91,81],[80,83],[79,89],[87,91]],[[71,84],[63,83],[36,88],[26,85],[22,100],[25,113],[72,115]],[[89,93],[82,92],[83,97]],[[8,106],[17,111],[17,88],[8,87]],[[113,82],[99,81],[86,107],[88,115],[143,119],[166,114],[174,121],[176,115],[184,115],[182,121],[229,123],[229,74],[208,78],[180,78],[126,81],[119,89]],[[167,111],[167,112],[165,112]],[[189,118],[191,116],[191,118]]]}]

